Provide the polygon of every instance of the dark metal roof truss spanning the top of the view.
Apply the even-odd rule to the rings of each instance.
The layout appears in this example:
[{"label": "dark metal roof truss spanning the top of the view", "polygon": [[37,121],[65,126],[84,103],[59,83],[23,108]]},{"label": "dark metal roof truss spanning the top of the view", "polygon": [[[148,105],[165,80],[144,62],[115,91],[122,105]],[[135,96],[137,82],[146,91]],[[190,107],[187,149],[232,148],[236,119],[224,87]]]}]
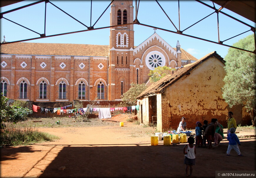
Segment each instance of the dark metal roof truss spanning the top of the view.
[{"label": "dark metal roof truss spanning the top of the view", "polygon": [[[219,45],[223,45],[223,46],[227,46],[227,47],[231,47],[231,48],[235,48],[235,49],[239,49],[239,50],[243,50],[243,51],[247,51],[247,52],[251,52],[251,53],[254,53],[256,54],[256,50],[254,51],[249,51],[249,50],[246,50],[246,49],[242,49],[242,48],[237,48],[235,46],[230,46],[230,45],[227,45],[227,44],[224,44],[223,42],[229,40],[229,39],[232,39],[236,36],[239,36],[241,34],[244,34],[248,31],[253,31],[254,32],[254,42],[255,42],[255,49],[256,49],[256,34],[255,34],[255,27],[249,25],[249,24],[246,24],[245,22],[239,20],[239,19],[236,19],[235,17],[233,16],[230,16],[228,14],[226,14],[225,12],[222,12],[221,10],[223,8],[225,8],[225,5],[227,4],[224,4],[222,7],[220,7],[219,9],[216,9],[215,8],[215,5],[213,3],[213,6],[210,6],[208,4],[205,4],[204,2],[200,1],[200,0],[195,0],[197,1],[198,3],[201,3],[209,8],[211,8],[213,10],[212,13],[210,13],[209,15],[207,15],[206,17],[202,18],[201,20],[197,21],[195,24],[199,23],[200,21],[206,19],[207,17],[211,16],[212,14],[214,13],[217,13],[217,29],[218,29],[218,40],[216,41],[211,41],[211,40],[208,40],[208,39],[203,39],[203,38],[200,38],[200,37],[196,37],[196,36],[192,36],[192,35],[188,35],[188,34],[184,34],[184,31],[189,29],[190,27],[194,26],[195,24],[187,27],[186,29],[183,29],[183,30],[180,30],[180,11],[178,12],[179,13],[179,29],[174,25],[174,23],[172,22],[172,20],[169,18],[169,16],[167,15],[167,13],[164,11],[164,9],[162,8],[162,6],[159,4],[159,2],[157,0],[155,0],[157,2],[157,4],[160,6],[160,8],[162,9],[162,11],[164,12],[164,14],[167,16],[167,18],[169,19],[169,21],[172,23],[172,25],[174,26],[174,28],[177,30],[177,31],[172,31],[172,30],[168,30],[168,29],[162,29],[162,28],[159,28],[157,26],[150,26],[150,25],[147,25],[147,24],[141,24],[139,22],[139,20],[137,19],[137,16],[138,16],[138,11],[139,11],[139,2],[140,0],[135,0],[135,19],[132,23],[129,23],[129,24],[121,24],[121,25],[114,25],[114,26],[105,26],[105,27],[100,27],[100,28],[94,28],[95,24],[97,24],[97,22],[99,21],[99,19],[102,17],[102,15],[105,13],[105,11],[109,8],[109,6],[112,4],[112,2],[115,1],[115,0],[112,0],[111,3],[106,7],[106,9],[102,12],[102,14],[99,16],[99,18],[95,21],[95,23],[92,25],[92,0],[91,0],[91,16],[90,16],[90,25],[85,25],[83,24],[81,21],[75,19],[73,16],[71,16],[70,14],[68,14],[67,12],[65,12],[64,10],[60,9],[59,7],[57,7],[56,5],[54,5],[52,2],[50,2],[49,0],[40,0],[40,1],[37,1],[37,2],[34,2],[34,3],[31,3],[31,4],[28,4],[28,5],[25,5],[25,6],[21,6],[19,8],[16,8],[16,9],[12,9],[12,10],[9,10],[9,11],[5,11],[5,12],[2,12],[0,13],[0,18],[2,19],[6,19],[14,24],[17,24],[23,28],[26,28],[30,31],[33,31],[25,26],[22,26],[21,24],[18,24],[14,21],[11,21],[7,18],[4,17],[4,14],[8,14],[10,12],[13,12],[13,11],[16,11],[16,10],[19,10],[19,9],[23,9],[23,8],[26,8],[26,7],[29,7],[29,6],[33,6],[35,4],[39,4],[39,3],[45,3],[45,11],[44,11],[44,34],[40,34],[36,31],[33,31],[34,33],[38,34],[39,37],[36,37],[36,38],[30,38],[30,39],[24,39],[24,40],[19,40],[19,41],[11,41],[11,42],[5,42],[5,43],[0,43],[0,45],[3,45],[3,44],[10,44],[10,43],[16,43],[16,42],[22,42],[22,41],[29,41],[29,40],[34,40],[34,39],[40,39],[40,38],[48,38],[48,37],[52,37],[52,36],[60,36],[60,35],[66,35],[66,34],[72,34],[72,33],[79,33],[79,32],[84,32],[84,31],[90,31],[90,30],[98,30],[98,29],[106,29],[106,28],[112,28],[112,27],[116,27],[116,26],[124,26],[124,25],[132,25],[132,24],[138,24],[138,25],[142,25],[142,26],[147,26],[147,27],[151,27],[151,28],[154,28],[154,29],[160,29],[160,30],[164,30],[164,31],[168,31],[168,32],[171,32],[171,33],[175,33],[175,34],[180,34],[180,35],[184,35],[184,36],[188,36],[188,37],[192,37],[192,38],[195,38],[195,39],[200,39],[200,40],[204,40],[204,41],[208,41],[208,42],[211,42],[211,43],[215,43],[215,44],[219,44]],[[47,3],[50,3],[51,5],[55,6],[57,9],[59,9],[60,11],[62,11],[63,13],[67,14],[68,16],[70,16],[72,19],[74,19],[75,21],[79,22],[80,24],[84,25],[87,29],[86,30],[80,30],[80,31],[72,31],[72,32],[67,32],[67,33],[61,33],[61,34],[55,34],[55,35],[46,35],[46,4]],[[179,0],[178,0],[178,9],[179,9]],[[248,27],[248,30],[241,33],[241,34],[237,34],[229,39],[226,39],[226,40],[223,40],[223,41],[220,41],[220,31],[219,31],[219,13],[221,14],[224,14],[225,16],[228,16],[242,24],[244,24],[245,26]]]}]

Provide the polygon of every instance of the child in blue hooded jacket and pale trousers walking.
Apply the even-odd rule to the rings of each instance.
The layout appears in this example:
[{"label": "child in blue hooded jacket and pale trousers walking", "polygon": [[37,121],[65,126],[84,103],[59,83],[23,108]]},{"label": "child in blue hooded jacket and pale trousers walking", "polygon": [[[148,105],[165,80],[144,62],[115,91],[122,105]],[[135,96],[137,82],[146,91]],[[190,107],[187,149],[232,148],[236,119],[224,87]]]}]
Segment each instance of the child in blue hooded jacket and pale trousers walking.
[{"label": "child in blue hooded jacket and pale trousers walking", "polygon": [[243,156],[240,153],[239,147],[237,145],[237,144],[239,144],[239,145],[241,145],[241,144],[240,144],[240,141],[239,141],[237,135],[235,134],[234,127],[230,128],[230,133],[227,136],[227,140],[228,140],[227,156],[230,156],[230,151],[232,149],[234,149],[237,152],[238,156]]}]

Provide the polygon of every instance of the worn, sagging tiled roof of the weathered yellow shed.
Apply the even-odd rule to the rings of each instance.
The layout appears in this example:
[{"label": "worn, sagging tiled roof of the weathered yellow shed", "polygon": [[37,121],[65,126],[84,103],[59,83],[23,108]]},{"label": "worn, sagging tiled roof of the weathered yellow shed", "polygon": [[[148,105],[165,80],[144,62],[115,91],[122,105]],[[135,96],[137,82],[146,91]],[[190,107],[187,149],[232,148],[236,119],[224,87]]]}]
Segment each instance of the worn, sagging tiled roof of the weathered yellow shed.
[{"label": "worn, sagging tiled roof of the weathered yellow shed", "polygon": [[141,94],[139,94],[139,96],[137,96],[137,99],[141,98],[141,97],[146,97],[148,95],[151,94],[156,94],[158,92],[161,92],[163,89],[165,89],[167,86],[173,84],[175,81],[177,81],[179,78],[181,78],[182,76],[184,76],[185,74],[187,74],[189,71],[191,71],[192,69],[194,69],[196,66],[198,66],[199,64],[201,64],[203,61],[209,59],[212,56],[216,56],[218,59],[220,59],[223,63],[225,62],[223,60],[223,58],[217,54],[216,51],[211,52],[207,55],[205,55],[204,57],[202,57],[201,59],[197,60],[194,63],[191,64],[187,64],[182,68],[177,69],[177,71],[175,71],[173,74],[171,75],[166,75],[164,76],[162,79],[154,82],[153,84],[151,84],[146,90],[144,90]]}]

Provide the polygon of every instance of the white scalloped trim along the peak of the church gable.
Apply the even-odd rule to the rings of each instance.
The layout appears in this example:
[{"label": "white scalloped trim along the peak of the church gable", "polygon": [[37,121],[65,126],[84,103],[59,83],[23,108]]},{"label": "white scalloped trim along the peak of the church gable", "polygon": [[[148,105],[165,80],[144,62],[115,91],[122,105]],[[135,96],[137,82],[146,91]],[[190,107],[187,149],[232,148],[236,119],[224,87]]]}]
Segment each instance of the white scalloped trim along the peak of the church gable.
[{"label": "white scalloped trim along the peak of the church gable", "polygon": [[152,46],[152,41],[154,41],[155,38],[157,39],[157,41],[159,41],[161,45],[166,48],[166,50],[171,51],[171,53],[177,57],[177,51],[174,50],[172,46],[164,41],[164,39],[162,39],[157,33],[152,34],[148,39],[146,39],[139,46],[137,46],[133,51],[133,55],[138,54],[138,52],[142,51],[146,47]]}]

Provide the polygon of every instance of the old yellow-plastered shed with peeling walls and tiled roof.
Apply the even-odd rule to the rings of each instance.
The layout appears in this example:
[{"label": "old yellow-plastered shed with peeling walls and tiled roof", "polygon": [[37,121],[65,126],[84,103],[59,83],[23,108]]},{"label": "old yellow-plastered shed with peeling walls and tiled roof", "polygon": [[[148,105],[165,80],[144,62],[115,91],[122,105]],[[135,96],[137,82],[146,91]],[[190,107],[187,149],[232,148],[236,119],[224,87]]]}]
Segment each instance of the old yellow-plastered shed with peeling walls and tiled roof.
[{"label": "old yellow-plastered shed with peeling walls and tiled roof", "polygon": [[224,62],[214,51],[153,83],[137,97],[140,122],[151,123],[152,116],[157,116],[159,131],[176,130],[184,116],[188,129],[195,128],[197,121],[210,122],[212,118],[226,127],[227,113],[232,111],[237,124],[248,124],[245,108],[230,108],[222,98]]}]

